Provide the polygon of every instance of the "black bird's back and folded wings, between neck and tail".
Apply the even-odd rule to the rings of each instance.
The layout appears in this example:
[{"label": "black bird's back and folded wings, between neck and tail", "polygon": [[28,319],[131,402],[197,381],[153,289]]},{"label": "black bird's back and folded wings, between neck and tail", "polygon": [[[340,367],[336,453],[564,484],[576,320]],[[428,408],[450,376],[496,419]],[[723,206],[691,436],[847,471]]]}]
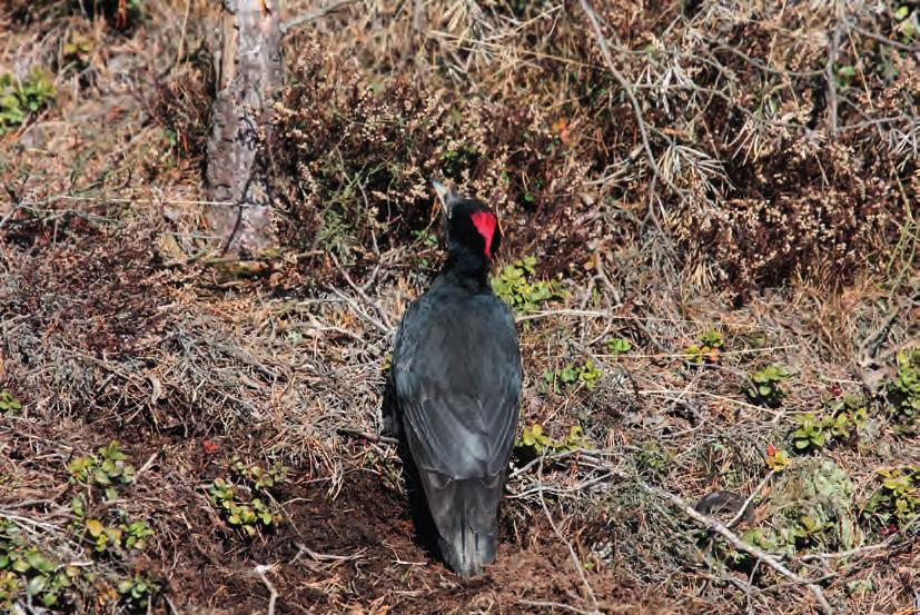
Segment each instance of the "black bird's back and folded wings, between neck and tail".
[{"label": "black bird's back and folded wings, between neck and tail", "polygon": [[497,476],[517,427],[521,356],[507,307],[416,301],[393,358],[409,449],[419,469],[446,479]]}]

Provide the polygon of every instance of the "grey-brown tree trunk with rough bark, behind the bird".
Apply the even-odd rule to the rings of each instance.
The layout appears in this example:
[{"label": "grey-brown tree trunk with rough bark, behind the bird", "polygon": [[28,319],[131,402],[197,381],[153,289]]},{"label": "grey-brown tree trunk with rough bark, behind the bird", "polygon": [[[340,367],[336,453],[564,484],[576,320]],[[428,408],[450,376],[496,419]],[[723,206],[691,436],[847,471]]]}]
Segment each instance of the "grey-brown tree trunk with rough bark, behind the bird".
[{"label": "grey-brown tree trunk with rough bark, behind the bird", "polygon": [[222,251],[257,252],[274,244],[268,166],[259,146],[284,86],[280,0],[222,0],[217,29],[217,95],[208,139],[211,228]]}]

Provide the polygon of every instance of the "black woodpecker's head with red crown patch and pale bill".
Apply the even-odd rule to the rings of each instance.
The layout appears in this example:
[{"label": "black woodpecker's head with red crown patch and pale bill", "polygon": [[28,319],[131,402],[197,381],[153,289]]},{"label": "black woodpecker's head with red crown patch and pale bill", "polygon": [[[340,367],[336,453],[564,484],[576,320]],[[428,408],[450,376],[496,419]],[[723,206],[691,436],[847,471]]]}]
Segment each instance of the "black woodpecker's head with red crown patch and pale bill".
[{"label": "black woodpecker's head with red crown patch and pale bill", "polygon": [[464,259],[484,260],[488,266],[502,245],[498,217],[485,204],[464,198],[439,181],[433,181],[444,210],[447,251]]}]

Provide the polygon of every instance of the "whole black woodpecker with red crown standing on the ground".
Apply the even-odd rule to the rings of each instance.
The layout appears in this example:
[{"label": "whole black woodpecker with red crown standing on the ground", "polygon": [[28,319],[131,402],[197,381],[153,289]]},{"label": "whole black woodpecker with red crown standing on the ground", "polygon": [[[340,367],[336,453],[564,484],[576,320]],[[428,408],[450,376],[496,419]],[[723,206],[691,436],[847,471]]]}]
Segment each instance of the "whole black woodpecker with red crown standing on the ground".
[{"label": "whole black woodpecker with red crown standing on the ground", "polygon": [[469,576],[495,558],[522,369],[514,319],[487,281],[497,218],[479,201],[444,200],[447,262],[403,316],[392,387],[442,555]]}]

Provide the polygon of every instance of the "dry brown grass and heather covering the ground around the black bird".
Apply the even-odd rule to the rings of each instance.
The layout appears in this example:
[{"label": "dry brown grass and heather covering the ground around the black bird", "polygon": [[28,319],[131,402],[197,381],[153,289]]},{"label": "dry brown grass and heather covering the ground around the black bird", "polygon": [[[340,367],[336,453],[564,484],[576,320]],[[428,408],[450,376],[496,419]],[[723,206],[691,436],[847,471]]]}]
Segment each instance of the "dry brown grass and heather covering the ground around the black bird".
[{"label": "dry brown grass and heather covering the ground around the black bird", "polygon": [[[284,245],[238,264],[206,258],[208,3],[145,2],[126,32],[73,6],[0,9],[0,73],[42,65],[58,89],[0,137],[0,388],[22,401],[0,415],[0,518],[100,575],[77,611],[126,609],[112,579],[141,572],[165,613],[264,611],[266,579],[279,612],[813,612],[815,593],[763,561],[729,566],[724,535],[670,496],[754,495],[731,532],[778,528],[789,477],[828,460],[852,483],[842,523],[877,468],[920,463],[878,396],[857,442],[764,464],[795,416],[865,393],[918,345],[920,72],[916,50],[888,57],[898,77],[877,70],[897,47],[881,39],[902,37],[890,16],[604,4],[636,113],[577,2],[344,6],[289,33],[266,143]],[[79,67],[63,59],[75,33],[90,41]],[[522,414],[585,433],[586,450],[516,458],[499,561],[472,583],[413,540],[395,452],[360,435],[379,433],[390,331],[437,267],[419,231],[437,232],[439,173],[499,210],[503,264],[537,256],[567,291],[520,317]],[[687,365],[710,328],[719,364]],[[611,355],[612,338],[633,349]],[[596,387],[545,390],[586,360]],[[749,375],[771,364],[791,368],[788,397],[752,405]],[[145,466],[116,508],[157,532],[125,561],[68,528],[65,465],[112,438]],[[234,456],[290,468],[274,494],[288,523],[250,542],[202,489]],[[838,612],[910,613],[917,532],[860,525],[849,557],[765,555]]]}]

